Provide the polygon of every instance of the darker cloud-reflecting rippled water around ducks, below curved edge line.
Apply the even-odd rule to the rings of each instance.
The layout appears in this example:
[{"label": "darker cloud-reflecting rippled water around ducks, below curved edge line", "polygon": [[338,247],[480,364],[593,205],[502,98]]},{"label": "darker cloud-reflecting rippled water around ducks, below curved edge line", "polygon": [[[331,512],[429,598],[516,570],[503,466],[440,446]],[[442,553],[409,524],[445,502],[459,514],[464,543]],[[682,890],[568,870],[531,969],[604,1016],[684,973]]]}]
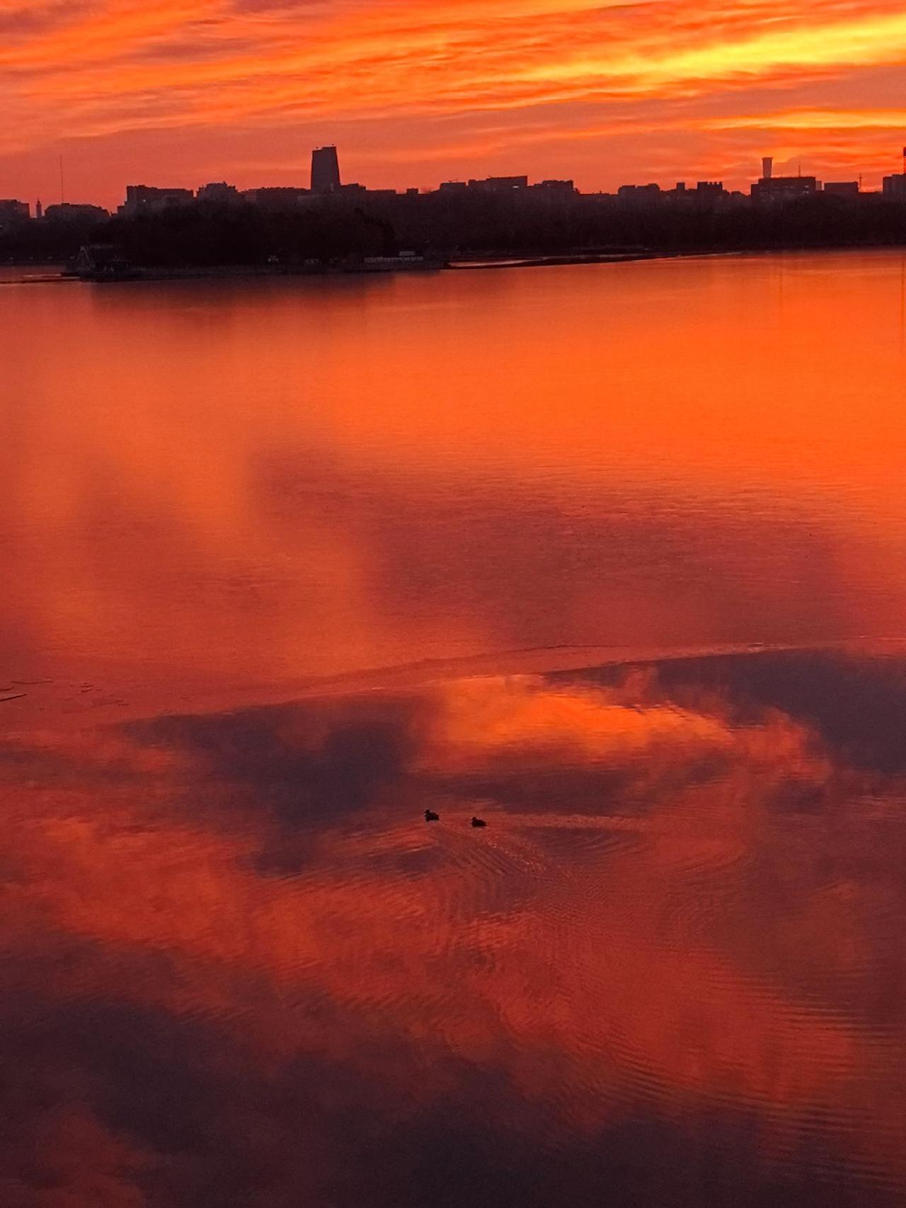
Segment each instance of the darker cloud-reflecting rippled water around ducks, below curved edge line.
[{"label": "darker cloud-reflecting rippled water around ducks, below curved edge line", "polygon": [[8,743],[16,1185],[895,1203],[904,704],[763,655]]}]

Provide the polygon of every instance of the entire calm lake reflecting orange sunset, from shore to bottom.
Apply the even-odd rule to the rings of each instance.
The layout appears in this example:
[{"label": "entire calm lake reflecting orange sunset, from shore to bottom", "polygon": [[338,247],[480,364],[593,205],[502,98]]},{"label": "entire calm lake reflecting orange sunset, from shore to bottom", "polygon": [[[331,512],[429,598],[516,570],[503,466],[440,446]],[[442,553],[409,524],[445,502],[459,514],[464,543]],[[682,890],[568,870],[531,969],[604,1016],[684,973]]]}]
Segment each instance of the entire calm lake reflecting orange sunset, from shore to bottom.
[{"label": "entire calm lake reflecting orange sunset, from shore to bottom", "polygon": [[0,372],[4,1208],[906,1202],[906,257],[0,281]]}]

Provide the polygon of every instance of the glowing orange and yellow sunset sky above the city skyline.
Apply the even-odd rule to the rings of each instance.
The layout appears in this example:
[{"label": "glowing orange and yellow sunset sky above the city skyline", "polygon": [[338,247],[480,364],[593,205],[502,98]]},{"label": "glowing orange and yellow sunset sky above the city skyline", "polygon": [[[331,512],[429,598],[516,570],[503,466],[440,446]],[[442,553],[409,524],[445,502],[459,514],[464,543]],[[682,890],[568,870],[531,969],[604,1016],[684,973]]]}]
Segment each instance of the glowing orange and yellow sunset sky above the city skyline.
[{"label": "glowing orange and yellow sunset sky above the city skyline", "polygon": [[0,197],[127,182],[876,187],[906,143],[902,0],[0,0]]}]

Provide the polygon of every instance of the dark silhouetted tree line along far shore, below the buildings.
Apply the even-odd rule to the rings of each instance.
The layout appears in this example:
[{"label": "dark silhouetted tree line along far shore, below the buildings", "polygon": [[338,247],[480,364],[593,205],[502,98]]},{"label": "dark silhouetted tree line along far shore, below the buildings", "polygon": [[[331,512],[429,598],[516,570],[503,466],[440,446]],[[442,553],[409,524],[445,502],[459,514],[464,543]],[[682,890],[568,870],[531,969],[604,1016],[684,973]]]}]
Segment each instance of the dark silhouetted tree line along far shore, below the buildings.
[{"label": "dark silhouetted tree line along far shore, below the buildings", "polygon": [[298,263],[400,250],[557,254],[591,248],[721,251],[906,244],[906,205],[878,194],[815,193],[785,203],[667,196],[436,192],[325,198],[300,209],[187,205],[94,222],[24,222],[0,230],[0,261],[63,261],[82,244],[112,244],[135,265]]}]

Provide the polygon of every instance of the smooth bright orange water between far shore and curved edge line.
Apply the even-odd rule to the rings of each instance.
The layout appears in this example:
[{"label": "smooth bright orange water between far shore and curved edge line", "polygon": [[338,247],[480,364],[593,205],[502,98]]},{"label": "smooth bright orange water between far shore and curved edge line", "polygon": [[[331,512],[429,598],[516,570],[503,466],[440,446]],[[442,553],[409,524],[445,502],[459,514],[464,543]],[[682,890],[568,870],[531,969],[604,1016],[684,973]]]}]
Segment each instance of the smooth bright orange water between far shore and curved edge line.
[{"label": "smooth bright orange water between far shore and curved edge line", "polygon": [[8,675],[900,637],[904,297],[892,252],[7,286]]}]

